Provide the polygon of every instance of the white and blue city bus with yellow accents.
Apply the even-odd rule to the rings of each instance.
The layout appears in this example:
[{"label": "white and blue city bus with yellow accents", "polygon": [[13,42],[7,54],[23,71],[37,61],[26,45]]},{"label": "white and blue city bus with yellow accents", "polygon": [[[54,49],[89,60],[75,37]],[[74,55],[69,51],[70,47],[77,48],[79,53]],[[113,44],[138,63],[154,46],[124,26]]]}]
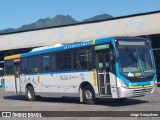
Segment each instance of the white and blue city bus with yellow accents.
[{"label": "white and blue city bus with yellow accents", "polygon": [[150,41],[109,37],[42,47],[5,57],[5,90],[42,97],[126,99],[153,94],[156,68]]}]

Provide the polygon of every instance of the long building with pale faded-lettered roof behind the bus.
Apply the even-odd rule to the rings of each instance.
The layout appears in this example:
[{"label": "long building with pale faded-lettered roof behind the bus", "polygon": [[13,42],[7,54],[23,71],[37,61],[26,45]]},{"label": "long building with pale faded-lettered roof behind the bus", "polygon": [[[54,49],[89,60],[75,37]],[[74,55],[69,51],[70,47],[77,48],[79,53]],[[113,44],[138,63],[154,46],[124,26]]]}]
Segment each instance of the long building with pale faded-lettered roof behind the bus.
[{"label": "long building with pale faded-lettered roof behind the bus", "polygon": [[[0,35],[0,61],[4,56],[41,46],[71,43],[109,36],[142,36],[152,41],[156,66],[160,68],[160,11],[108,20],[34,29]],[[2,65],[3,66],[3,65]]]}]

